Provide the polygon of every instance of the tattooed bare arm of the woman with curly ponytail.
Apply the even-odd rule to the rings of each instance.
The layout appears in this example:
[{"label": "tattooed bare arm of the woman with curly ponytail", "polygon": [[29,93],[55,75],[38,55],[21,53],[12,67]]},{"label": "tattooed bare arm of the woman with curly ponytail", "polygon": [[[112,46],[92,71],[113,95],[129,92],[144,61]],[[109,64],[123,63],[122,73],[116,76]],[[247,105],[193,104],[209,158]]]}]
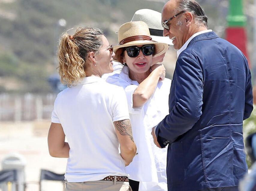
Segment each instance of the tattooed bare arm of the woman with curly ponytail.
[{"label": "tattooed bare arm of the woman with curly ponytail", "polygon": [[136,154],[137,147],[132,137],[132,126],[129,119],[114,122],[118,141],[120,142],[121,156],[128,166]]}]

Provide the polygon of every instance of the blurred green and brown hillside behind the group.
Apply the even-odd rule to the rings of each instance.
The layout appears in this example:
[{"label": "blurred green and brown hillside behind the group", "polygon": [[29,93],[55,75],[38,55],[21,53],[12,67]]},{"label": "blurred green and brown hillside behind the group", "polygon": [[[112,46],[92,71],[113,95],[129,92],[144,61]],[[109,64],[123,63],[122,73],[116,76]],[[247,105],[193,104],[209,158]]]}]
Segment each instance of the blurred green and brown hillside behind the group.
[{"label": "blurred green and brown hillside behind the group", "polygon": [[[254,0],[245,0],[248,41],[254,41]],[[112,44],[115,31],[141,8],[161,12],[166,0],[0,0],[0,93],[48,93],[56,73],[58,38],[78,26],[99,27]],[[198,0],[209,27],[225,38],[228,0]],[[59,23],[64,19],[66,23]],[[72,30],[70,31],[72,33]],[[254,50],[248,44],[249,53]],[[252,60],[252,59],[251,59]],[[171,78],[171,76],[169,75]]]}]

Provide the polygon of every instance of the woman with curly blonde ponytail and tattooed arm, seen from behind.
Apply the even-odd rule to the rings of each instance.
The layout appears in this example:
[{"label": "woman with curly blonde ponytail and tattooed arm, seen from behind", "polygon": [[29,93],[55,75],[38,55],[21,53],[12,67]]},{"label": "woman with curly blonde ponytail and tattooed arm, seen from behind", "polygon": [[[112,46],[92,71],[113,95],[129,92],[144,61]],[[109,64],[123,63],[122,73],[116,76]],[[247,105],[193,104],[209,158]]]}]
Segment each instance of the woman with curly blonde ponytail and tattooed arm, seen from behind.
[{"label": "woman with curly blonde ponytail and tattooed arm, seen from behind", "polygon": [[48,147],[51,156],[68,158],[65,191],[131,190],[125,166],[136,145],[125,92],[101,78],[113,72],[113,56],[97,28],[61,38],[59,74],[68,88],[55,100]]}]

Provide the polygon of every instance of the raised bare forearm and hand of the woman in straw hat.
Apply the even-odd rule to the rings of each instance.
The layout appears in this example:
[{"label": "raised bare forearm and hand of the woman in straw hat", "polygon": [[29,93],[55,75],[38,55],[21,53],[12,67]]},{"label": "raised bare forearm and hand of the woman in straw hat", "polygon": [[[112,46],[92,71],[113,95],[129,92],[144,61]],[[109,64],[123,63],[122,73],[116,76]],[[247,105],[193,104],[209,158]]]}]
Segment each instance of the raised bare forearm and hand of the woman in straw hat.
[{"label": "raised bare forearm and hand of the woman in straw hat", "polygon": [[133,94],[133,107],[144,105],[154,93],[159,79],[165,78],[165,67],[162,64],[151,66],[152,72],[136,88]]}]

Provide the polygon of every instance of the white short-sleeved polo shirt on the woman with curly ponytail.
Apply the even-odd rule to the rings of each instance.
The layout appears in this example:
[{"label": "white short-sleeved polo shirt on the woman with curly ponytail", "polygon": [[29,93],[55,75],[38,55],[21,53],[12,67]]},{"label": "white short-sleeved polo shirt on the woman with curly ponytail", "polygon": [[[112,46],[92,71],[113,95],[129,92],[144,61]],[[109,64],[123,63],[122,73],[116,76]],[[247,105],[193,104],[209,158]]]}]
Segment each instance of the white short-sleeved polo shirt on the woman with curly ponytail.
[{"label": "white short-sleeved polo shirt on the woman with curly ponytail", "polygon": [[85,77],[58,94],[52,122],[63,127],[70,146],[68,182],[127,176],[113,121],[129,119],[125,92],[100,77]]}]

